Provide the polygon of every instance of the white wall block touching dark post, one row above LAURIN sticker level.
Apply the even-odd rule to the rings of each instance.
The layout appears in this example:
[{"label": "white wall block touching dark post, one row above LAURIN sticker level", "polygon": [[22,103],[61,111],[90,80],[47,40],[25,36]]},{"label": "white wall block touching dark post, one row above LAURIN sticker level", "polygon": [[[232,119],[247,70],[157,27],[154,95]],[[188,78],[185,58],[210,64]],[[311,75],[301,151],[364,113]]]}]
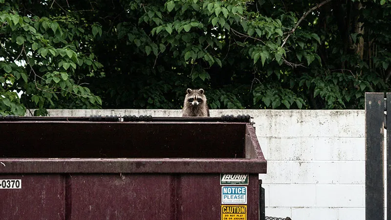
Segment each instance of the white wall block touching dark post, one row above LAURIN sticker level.
[{"label": "white wall block touching dark post, one row above LAURIN sticker level", "polygon": [[365,161],[363,137],[314,138],[314,160]]}]

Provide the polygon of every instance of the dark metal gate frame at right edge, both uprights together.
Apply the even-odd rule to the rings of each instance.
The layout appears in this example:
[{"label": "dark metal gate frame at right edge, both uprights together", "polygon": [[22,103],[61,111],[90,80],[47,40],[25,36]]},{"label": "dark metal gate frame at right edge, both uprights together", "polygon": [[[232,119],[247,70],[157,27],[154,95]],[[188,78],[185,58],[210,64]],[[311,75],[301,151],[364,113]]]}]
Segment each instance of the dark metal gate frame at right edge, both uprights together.
[{"label": "dark metal gate frame at right edge, both uprights together", "polygon": [[[384,114],[387,111],[387,115]],[[391,219],[391,132],[387,132],[387,201],[384,199],[384,129],[391,127],[391,93],[365,94],[365,219]]]}]

